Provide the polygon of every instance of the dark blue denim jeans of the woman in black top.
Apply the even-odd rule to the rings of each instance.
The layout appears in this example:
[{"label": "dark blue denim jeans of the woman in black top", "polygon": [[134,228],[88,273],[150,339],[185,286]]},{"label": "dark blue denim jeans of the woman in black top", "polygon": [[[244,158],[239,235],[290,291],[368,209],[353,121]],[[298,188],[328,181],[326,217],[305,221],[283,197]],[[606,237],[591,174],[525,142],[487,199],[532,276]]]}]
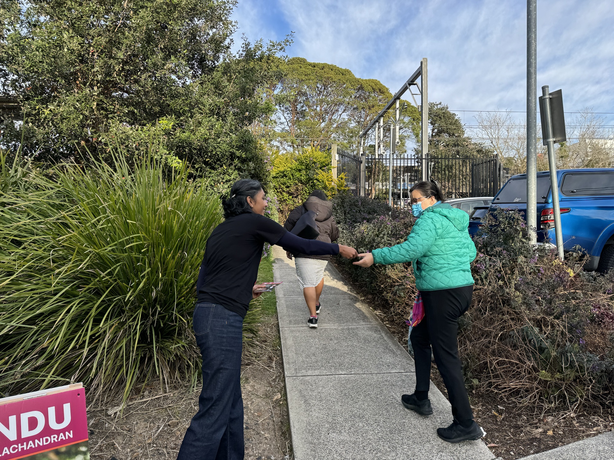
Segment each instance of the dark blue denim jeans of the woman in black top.
[{"label": "dark blue denim jeans of the woman in black top", "polygon": [[203,302],[194,309],[193,328],[203,356],[203,389],[177,460],[243,460],[243,318]]}]

